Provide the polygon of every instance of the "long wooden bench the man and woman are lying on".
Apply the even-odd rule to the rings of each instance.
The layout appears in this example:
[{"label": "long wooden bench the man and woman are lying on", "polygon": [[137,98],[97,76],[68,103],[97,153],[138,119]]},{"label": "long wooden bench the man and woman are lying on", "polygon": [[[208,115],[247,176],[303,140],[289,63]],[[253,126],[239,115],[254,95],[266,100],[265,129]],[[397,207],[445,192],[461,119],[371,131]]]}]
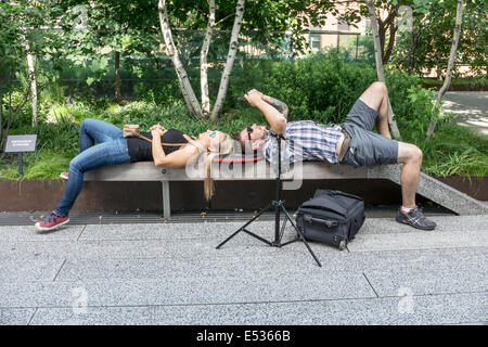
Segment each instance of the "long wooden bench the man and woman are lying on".
[{"label": "long wooden bench the man and woman are lying on", "polygon": [[[286,169],[286,168],[285,168]],[[331,165],[322,162],[295,164],[282,174],[283,188],[300,184],[300,180],[330,179],[388,179],[400,184],[400,165],[352,168],[346,165]],[[163,191],[163,217],[170,218],[169,182],[203,181],[202,168],[159,168],[152,162],[112,165],[88,171],[86,181],[158,181]],[[213,177],[219,180],[274,180],[274,169],[266,162],[244,164],[214,163]],[[288,184],[286,187],[286,184]],[[299,185],[297,187],[299,188]],[[296,188],[296,189],[297,189]],[[449,208],[459,215],[487,214],[488,206],[427,175],[421,174],[418,193]]]}]

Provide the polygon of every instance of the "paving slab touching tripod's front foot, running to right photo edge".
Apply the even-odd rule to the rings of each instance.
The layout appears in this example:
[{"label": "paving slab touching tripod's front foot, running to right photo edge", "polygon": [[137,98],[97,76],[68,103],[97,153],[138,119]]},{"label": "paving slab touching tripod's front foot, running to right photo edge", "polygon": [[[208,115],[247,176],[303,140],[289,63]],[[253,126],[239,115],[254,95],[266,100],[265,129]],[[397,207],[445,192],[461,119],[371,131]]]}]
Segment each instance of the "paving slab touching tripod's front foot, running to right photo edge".
[{"label": "paving slab touching tripod's front foot, running to right photo edge", "polygon": [[[488,265],[488,248],[477,249],[437,249],[411,252],[375,252],[347,253],[320,256],[323,265],[317,267],[308,254],[296,256],[282,253],[279,255],[261,255],[245,257],[215,258],[86,258],[68,259],[57,274],[55,281],[105,281],[105,280],[157,280],[160,273],[165,278],[217,278],[228,279],[253,278],[260,275],[287,277],[299,281],[300,277],[317,273],[328,277],[332,273],[363,273],[384,271],[385,269],[420,269],[429,271],[455,271],[461,278],[465,273],[484,274]],[[470,282],[465,283],[466,286]]]}]

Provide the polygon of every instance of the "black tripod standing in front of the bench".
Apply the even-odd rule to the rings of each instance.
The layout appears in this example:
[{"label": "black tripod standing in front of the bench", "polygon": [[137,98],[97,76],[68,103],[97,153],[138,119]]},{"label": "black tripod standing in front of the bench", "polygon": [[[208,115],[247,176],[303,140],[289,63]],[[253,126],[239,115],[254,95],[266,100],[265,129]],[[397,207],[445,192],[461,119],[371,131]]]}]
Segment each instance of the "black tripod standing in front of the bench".
[{"label": "black tripod standing in front of the bench", "polygon": [[[219,249],[221,246],[223,246],[228,241],[230,241],[232,237],[234,237],[237,233],[240,233],[241,231],[244,231],[245,233],[247,233],[248,235],[272,246],[272,247],[282,247],[282,246],[286,246],[291,243],[294,243],[296,241],[298,241],[298,239],[285,242],[285,243],[281,243],[281,240],[283,237],[283,233],[284,233],[284,228],[286,226],[286,221],[290,220],[290,222],[292,223],[293,228],[296,230],[299,240],[301,240],[301,242],[307,246],[308,250],[310,252],[311,256],[313,257],[313,259],[316,259],[317,264],[319,265],[319,267],[322,267],[322,265],[320,264],[319,259],[317,258],[317,256],[313,254],[313,252],[311,250],[310,246],[308,245],[307,241],[305,240],[305,236],[303,234],[303,232],[297,228],[296,223],[293,221],[292,217],[290,216],[290,214],[287,213],[286,208],[284,207],[284,201],[281,200],[281,140],[285,140],[285,138],[283,137],[283,134],[281,133],[277,133],[272,130],[269,131],[270,136],[273,137],[274,139],[277,139],[278,141],[278,174],[277,174],[277,180],[275,180],[275,195],[274,195],[274,200],[267,206],[265,207],[259,214],[257,214],[256,216],[254,216],[252,219],[249,219],[244,226],[242,226],[237,231],[235,231],[232,235],[230,235],[226,241],[223,241],[222,243],[220,243],[217,246],[217,249]],[[254,222],[256,219],[258,219],[264,213],[272,209],[274,207],[274,241],[270,242],[266,239],[262,239],[259,235],[256,235],[255,233],[248,231],[246,229],[247,226],[249,226],[252,222]],[[285,220],[284,223],[281,228],[281,232],[280,232],[280,214],[284,213],[285,215]]]}]

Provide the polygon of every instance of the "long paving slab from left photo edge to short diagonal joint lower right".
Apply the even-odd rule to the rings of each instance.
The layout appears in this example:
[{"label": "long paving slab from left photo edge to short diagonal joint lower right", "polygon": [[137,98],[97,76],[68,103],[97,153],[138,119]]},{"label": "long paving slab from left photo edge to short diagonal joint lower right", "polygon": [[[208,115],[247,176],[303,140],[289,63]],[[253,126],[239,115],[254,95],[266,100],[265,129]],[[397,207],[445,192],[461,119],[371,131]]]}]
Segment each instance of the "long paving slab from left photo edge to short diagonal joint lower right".
[{"label": "long paving slab from left photo edge to short diagonal joint lower right", "polygon": [[[81,295],[82,293],[82,295]],[[322,273],[291,279],[255,273],[249,278],[174,278],[158,281],[7,283],[0,307],[72,307],[80,297],[88,306],[196,305],[364,298],[375,294],[363,274]]]}]

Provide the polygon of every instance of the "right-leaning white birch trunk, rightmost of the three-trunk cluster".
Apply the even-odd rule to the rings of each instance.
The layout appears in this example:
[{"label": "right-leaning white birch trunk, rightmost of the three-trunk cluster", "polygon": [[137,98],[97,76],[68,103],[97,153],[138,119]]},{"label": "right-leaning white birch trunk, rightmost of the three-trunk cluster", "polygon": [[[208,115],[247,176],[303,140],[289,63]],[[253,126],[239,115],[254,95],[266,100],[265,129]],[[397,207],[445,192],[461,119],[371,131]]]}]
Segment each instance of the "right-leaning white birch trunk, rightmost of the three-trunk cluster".
[{"label": "right-leaning white birch trunk, rightmost of the three-trunk cluster", "polygon": [[245,0],[237,0],[237,5],[235,8],[235,18],[234,25],[232,27],[231,40],[229,46],[229,53],[227,55],[226,67],[220,79],[219,92],[217,94],[217,100],[211,111],[210,119],[217,119],[219,113],[222,111],[223,101],[226,100],[227,89],[229,87],[229,76],[234,64],[235,54],[237,53],[237,38],[239,31],[241,30],[242,18],[244,17],[244,5]]}]

